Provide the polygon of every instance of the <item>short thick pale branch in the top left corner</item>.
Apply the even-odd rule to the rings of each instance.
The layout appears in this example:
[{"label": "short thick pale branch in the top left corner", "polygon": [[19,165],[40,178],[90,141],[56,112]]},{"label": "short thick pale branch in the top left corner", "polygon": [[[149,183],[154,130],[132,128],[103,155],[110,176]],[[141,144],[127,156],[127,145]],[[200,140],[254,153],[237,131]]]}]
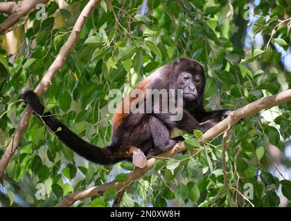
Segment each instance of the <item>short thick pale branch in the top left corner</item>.
[{"label": "short thick pale branch in the top left corner", "polygon": [[[21,17],[24,17],[30,11],[34,11],[39,3],[46,3],[49,0],[23,0],[14,3],[11,1],[0,3],[0,12],[11,14],[3,23],[0,24],[0,35],[3,35],[11,28]],[[3,10],[2,10],[3,9]]]}]

